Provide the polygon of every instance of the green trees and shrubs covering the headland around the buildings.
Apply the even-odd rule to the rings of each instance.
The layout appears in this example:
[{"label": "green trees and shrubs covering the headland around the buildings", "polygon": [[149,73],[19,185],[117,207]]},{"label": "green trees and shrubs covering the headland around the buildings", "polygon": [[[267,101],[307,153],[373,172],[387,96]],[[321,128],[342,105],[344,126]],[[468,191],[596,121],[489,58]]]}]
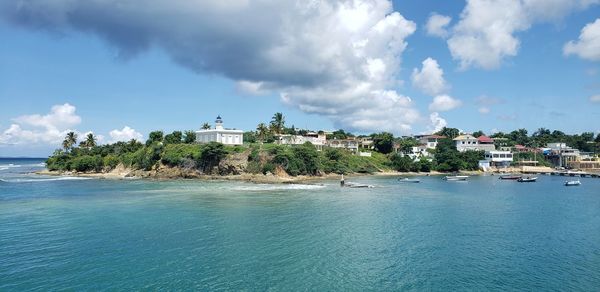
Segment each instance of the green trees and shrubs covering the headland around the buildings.
[{"label": "green trees and shrubs covering the headland around the buildings", "polygon": [[[202,128],[209,129],[205,123]],[[427,149],[425,156],[414,158],[413,147],[419,146],[419,141],[412,137],[394,137],[388,132],[355,136],[344,130],[327,134],[332,140],[370,138],[372,144],[365,144],[370,152],[369,157],[351,153],[345,149],[323,147],[317,149],[310,143],[304,145],[278,145],[274,142],[277,135],[306,135],[309,130],[297,129],[293,125],[285,126],[285,116],[275,113],[269,123],[259,123],[256,131],[244,133],[244,146],[224,146],[220,143],[196,144],[194,131],[173,131],[164,134],[163,131],[153,131],[145,143],[132,140],[114,144],[97,145],[96,137],[90,133],[77,147],[77,134],[67,133],[62,148],[47,160],[50,170],[101,172],[110,171],[119,165],[136,170],[154,170],[161,165],[187,170],[197,170],[201,173],[231,172],[218,166],[224,159],[232,158],[246,169],[235,169],[236,173],[287,173],[288,175],[321,175],[327,173],[373,173],[378,171],[396,170],[400,172],[455,172],[460,170],[477,170],[479,161],[484,159],[483,151],[459,152],[456,150],[453,138],[460,134],[456,128],[444,127],[437,135],[445,136],[438,141],[436,149]],[[319,135],[324,134],[319,132]],[[485,135],[476,131],[474,136]],[[529,148],[539,148],[552,142],[565,142],[567,145],[584,152],[600,152],[600,135],[593,133],[567,135],[561,131],[550,131],[540,128],[532,135],[527,130],[518,129],[510,133],[498,132],[491,135],[495,138],[496,147],[513,147],[517,144]],[[372,146],[369,146],[372,145]],[[363,145],[364,146],[364,145]],[[321,151],[319,151],[321,150]],[[243,161],[247,158],[246,161]],[[538,165],[549,166],[549,162],[541,154],[533,152],[515,153],[514,160],[536,160]],[[227,165],[227,164],[226,164]]]}]

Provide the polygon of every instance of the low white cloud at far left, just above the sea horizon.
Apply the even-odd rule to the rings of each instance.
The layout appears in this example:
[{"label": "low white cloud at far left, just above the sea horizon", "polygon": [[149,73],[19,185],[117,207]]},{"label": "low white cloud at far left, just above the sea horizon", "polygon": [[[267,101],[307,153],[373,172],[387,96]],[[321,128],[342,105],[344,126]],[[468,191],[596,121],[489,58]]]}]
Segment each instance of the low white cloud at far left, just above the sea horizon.
[{"label": "low white cloud at far left, just above the sea horizon", "polygon": [[23,115],[13,119],[10,125],[0,134],[0,144],[55,144],[58,145],[67,132],[81,123],[75,113],[76,108],[68,103],[55,105],[45,115]]}]

